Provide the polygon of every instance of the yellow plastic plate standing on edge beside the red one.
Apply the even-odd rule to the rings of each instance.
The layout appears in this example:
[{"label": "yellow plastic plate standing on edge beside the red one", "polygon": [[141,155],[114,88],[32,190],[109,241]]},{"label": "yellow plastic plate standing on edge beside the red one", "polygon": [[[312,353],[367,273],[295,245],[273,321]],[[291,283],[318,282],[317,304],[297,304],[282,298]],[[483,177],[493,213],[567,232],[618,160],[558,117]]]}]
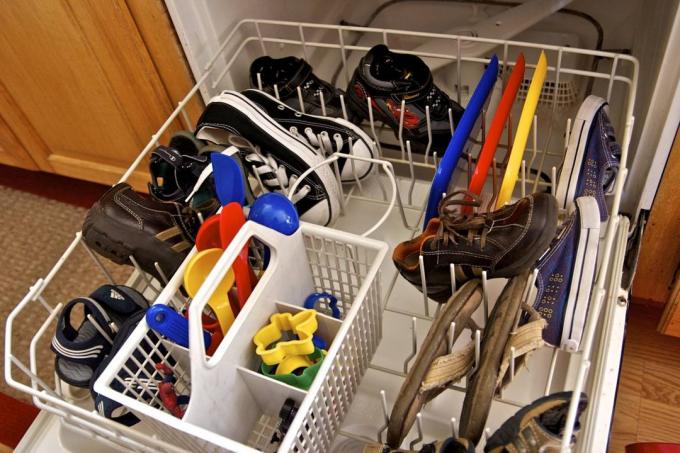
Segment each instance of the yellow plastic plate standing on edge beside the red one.
[{"label": "yellow plastic plate standing on edge beside the red one", "polygon": [[524,155],[524,148],[527,145],[529,138],[529,131],[534,120],[534,113],[536,113],[536,106],[541,96],[541,89],[543,88],[543,81],[545,74],[548,71],[548,59],[545,57],[545,52],[541,51],[538,57],[536,69],[534,69],[534,76],[531,78],[531,84],[527,91],[527,97],[522,107],[522,114],[519,117],[517,124],[517,132],[515,134],[515,141],[512,143],[510,150],[510,157],[508,158],[508,166],[505,169],[503,182],[498,191],[498,199],[496,200],[496,209],[503,207],[505,203],[512,198],[512,192],[515,190],[515,183],[517,182],[517,175],[519,167],[522,163],[522,156]]}]

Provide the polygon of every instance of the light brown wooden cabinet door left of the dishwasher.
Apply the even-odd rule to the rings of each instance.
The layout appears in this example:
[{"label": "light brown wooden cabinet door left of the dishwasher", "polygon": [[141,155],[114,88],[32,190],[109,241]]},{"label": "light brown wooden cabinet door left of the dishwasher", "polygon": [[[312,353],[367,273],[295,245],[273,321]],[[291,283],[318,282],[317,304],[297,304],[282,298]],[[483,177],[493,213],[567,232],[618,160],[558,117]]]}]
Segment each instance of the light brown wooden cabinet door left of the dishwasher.
[{"label": "light brown wooden cabinet door left of the dishwasher", "polygon": [[[0,112],[40,169],[114,183],[176,106],[144,39],[158,34],[177,47],[176,37],[161,1],[148,3],[160,14],[140,30],[124,0],[3,2]],[[164,71],[188,91],[189,71],[175,55],[162,55]],[[142,164],[131,182],[147,180]]]}]

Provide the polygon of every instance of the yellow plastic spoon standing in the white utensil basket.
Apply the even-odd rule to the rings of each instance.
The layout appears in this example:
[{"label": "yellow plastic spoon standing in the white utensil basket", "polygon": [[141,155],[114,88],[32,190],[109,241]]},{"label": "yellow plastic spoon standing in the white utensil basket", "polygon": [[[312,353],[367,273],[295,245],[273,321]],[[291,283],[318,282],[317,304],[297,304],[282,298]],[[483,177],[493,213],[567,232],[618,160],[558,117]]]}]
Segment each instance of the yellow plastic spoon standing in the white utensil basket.
[{"label": "yellow plastic spoon standing in the white utensil basket", "polygon": [[[207,249],[194,255],[184,271],[184,288],[189,297],[194,297],[205,281],[210,271],[215,267],[217,260],[222,256],[222,249]],[[229,269],[217,289],[208,300],[208,305],[217,317],[222,328],[222,334],[226,333],[234,322],[234,312],[229,305],[229,289],[234,285],[234,271]]]}]

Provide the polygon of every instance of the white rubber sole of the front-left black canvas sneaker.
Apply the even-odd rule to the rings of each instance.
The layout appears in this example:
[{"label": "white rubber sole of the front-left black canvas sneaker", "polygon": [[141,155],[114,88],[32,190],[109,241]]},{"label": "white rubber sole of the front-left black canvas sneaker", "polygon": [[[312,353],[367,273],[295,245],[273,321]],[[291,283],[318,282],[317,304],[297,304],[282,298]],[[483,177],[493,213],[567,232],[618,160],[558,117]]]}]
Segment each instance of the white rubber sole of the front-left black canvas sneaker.
[{"label": "white rubber sole of the front-left black canvas sneaker", "polygon": [[[280,124],[274,121],[272,117],[267,115],[260,107],[240,93],[223,91],[221,94],[212,98],[210,102],[220,102],[236,108],[250,118],[253,126],[259,129],[263,134],[269,135],[288,151],[306,162],[310,168],[324,160],[306,143],[303,143],[290,135]],[[323,165],[314,170],[314,173],[323,184],[323,188],[327,193],[329,215],[325,225],[329,225],[335,220],[340,212],[340,193],[337,179],[335,178],[335,174],[333,173],[333,170],[331,170],[330,165]]]}]

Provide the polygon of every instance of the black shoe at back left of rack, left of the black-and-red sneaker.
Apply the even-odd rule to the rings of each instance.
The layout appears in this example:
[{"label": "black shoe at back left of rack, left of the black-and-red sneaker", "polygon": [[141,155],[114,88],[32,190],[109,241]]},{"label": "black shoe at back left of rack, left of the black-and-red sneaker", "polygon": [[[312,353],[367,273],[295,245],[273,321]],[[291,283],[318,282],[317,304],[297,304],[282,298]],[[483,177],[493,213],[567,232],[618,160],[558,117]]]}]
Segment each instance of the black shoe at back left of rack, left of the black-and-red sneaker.
[{"label": "black shoe at back left of rack, left of the black-and-red sneaker", "polygon": [[[252,88],[260,88],[257,80],[258,74],[260,74],[262,90],[274,95],[274,85],[276,85],[279,99],[295,110],[300,110],[300,98],[297,92],[297,87],[300,87],[305,113],[323,115],[325,110],[325,116],[342,117],[340,95],[344,93],[314,75],[312,67],[305,60],[295,57],[278,59],[260,57],[250,65]],[[325,108],[321,107],[319,92],[323,93]]]}]

